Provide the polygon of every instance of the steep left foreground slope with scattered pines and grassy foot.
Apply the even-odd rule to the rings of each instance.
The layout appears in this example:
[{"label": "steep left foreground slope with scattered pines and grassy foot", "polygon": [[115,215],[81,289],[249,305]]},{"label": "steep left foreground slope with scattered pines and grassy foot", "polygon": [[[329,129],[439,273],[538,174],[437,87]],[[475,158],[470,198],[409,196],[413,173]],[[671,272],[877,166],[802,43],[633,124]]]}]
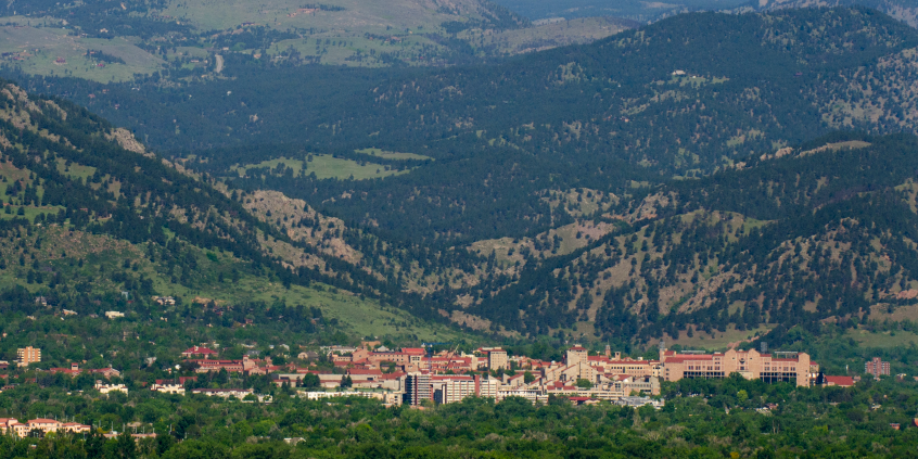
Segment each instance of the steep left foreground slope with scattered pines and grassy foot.
[{"label": "steep left foreground slope with scattered pines and grassy foot", "polygon": [[[368,319],[340,328],[361,336],[373,331],[373,319],[403,322],[403,334],[431,331],[380,307],[411,301],[384,279],[282,232],[239,192],[162,160],[71,102],[0,82],[0,146],[4,294],[97,315],[135,307],[148,314],[154,295],[243,311],[285,308],[290,298],[333,318],[350,314],[339,306],[364,310]],[[311,215],[316,228],[328,220]]]}]

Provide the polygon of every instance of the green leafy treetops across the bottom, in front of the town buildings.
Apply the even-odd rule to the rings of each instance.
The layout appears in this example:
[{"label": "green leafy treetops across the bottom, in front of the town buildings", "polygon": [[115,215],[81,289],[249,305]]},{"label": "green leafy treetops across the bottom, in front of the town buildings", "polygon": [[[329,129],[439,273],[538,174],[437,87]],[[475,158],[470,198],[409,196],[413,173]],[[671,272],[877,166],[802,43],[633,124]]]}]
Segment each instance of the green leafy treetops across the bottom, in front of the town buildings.
[{"label": "green leafy treetops across the bottom, in front of the town buildings", "polygon": [[[0,457],[901,457],[911,452],[918,435],[910,424],[915,383],[799,388],[737,375],[684,380],[664,384],[663,391],[667,399],[661,410],[608,401],[574,406],[553,397],[538,406],[517,397],[467,398],[417,410],[366,399],[307,401],[291,398],[284,388],[262,406],[149,391],[106,399],[31,386],[11,391],[15,396],[4,392],[0,410],[50,411],[105,431],[138,420],[160,435],[137,443],[127,436],[106,441],[98,433],[3,436]],[[283,438],[302,439],[291,445]]]}]

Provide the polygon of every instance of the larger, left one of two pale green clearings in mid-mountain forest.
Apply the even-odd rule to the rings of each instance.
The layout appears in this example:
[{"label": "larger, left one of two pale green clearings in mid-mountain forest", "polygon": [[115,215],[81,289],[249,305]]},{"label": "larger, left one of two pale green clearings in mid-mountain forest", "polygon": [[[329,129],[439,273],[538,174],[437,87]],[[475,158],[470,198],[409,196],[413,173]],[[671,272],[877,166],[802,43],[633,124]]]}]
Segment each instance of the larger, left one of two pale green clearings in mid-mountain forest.
[{"label": "larger, left one of two pale green clearings in mid-mountain forest", "polygon": [[382,178],[388,176],[396,176],[407,174],[408,170],[386,170],[386,166],[375,163],[360,164],[356,161],[333,157],[330,155],[313,155],[313,161],[278,158],[264,161],[258,164],[250,164],[245,166],[237,166],[233,170],[238,171],[240,177],[244,177],[250,169],[253,168],[277,168],[278,165],[284,166],[294,170],[294,177],[304,176],[303,165],[306,165],[305,175],[316,174],[318,179],[341,179],[347,180],[367,180],[373,178]]}]

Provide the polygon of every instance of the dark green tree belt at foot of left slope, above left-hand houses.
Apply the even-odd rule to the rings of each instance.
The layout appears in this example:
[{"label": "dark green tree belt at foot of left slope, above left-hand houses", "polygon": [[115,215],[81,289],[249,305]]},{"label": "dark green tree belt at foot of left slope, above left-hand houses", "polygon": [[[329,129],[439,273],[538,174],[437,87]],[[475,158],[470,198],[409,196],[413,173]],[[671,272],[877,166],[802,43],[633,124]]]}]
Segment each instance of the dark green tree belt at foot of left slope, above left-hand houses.
[{"label": "dark green tree belt at foot of left slope, above left-hand houses", "polygon": [[[24,288],[0,293],[0,330],[8,334],[0,344],[0,360],[15,361],[17,348],[37,346],[42,361],[34,368],[87,361],[85,368],[113,366],[132,381],[152,383],[171,378],[169,369],[180,364],[181,353],[203,342],[224,343],[228,349],[225,358],[241,359],[242,350],[253,345],[260,357],[286,354],[290,358],[291,353],[299,353],[299,344],[318,346],[354,340],[343,324],[326,318],[319,308],[282,301],[217,306],[179,298],[175,306],[161,306],[149,296],[128,299],[112,292],[46,297],[50,304],[44,306],[35,297]],[[63,309],[77,315],[66,316]],[[120,311],[125,317],[109,320],[106,310]],[[243,344],[250,347],[234,347]],[[148,361],[152,357],[154,364]]]}]

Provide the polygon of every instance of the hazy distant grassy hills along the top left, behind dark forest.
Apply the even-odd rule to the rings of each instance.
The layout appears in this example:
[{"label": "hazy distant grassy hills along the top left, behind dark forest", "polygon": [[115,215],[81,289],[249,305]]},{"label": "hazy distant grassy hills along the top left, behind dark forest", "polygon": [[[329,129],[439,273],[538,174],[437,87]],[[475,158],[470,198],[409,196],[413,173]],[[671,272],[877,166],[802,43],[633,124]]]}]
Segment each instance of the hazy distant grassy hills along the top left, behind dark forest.
[{"label": "hazy distant grassy hills along the top left, behind dark forest", "polygon": [[2,64],[100,82],[219,78],[231,55],[302,66],[438,66],[604,38],[630,23],[535,26],[488,0],[127,0],[0,7]]}]

